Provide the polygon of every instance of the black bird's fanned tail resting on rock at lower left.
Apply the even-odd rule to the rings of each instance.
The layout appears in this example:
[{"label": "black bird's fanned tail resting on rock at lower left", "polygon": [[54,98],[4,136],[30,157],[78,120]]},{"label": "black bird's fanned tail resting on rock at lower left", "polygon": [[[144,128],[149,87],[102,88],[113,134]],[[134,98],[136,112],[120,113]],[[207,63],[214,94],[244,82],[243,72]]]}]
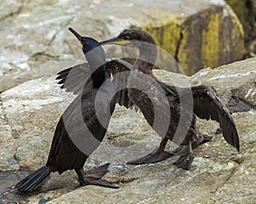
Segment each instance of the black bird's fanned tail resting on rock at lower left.
[{"label": "black bird's fanned tail resting on rock at lower left", "polygon": [[37,188],[51,172],[52,167],[40,167],[37,171],[22,179],[18,184],[15,184],[14,189],[19,192],[32,191]]}]

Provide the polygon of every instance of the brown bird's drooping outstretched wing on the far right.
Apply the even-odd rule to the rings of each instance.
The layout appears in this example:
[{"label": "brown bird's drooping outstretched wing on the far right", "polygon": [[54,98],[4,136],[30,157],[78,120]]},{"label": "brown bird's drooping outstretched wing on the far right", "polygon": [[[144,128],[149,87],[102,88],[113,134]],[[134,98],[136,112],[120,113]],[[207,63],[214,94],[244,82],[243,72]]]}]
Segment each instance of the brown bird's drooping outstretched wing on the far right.
[{"label": "brown bird's drooping outstretched wing on the far right", "polygon": [[239,151],[239,137],[236,124],[230,111],[218,98],[211,86],[195,86],[191,88],[194,99],[194,113],[201,119],[217,121],[222,129],[224,139]]}]

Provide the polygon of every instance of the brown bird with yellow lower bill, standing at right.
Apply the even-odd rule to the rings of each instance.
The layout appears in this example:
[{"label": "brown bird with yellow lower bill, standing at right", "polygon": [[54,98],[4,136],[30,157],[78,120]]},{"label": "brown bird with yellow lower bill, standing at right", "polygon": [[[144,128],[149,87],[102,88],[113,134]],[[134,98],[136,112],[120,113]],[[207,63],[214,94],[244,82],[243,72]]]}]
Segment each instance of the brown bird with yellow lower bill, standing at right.
[{"label": "brown bird with yellow lower bill, standing at right", "polygon": [[[164,151],[167,140],[170,139],[176,144],[188,146],[188,152],[183,154],[175,164],[177,167],[189,170],[194,159],[192,144],[202,144],[212,138],[198,131],[195,116],[217,121],[222,129],[224,139],[239,151],[240,144],[235,122],[228,109],[218,98],[214,88],[204,85],[192,88],[175,88],[154,77],[152,69],[157,58],[157,47],[154,38],[147,32],[136,29],[124,30],[118,37],[101,42],[101,44],[118,44],[139,49],[139,57],[128,77],[128,96],[134,105],[137,105],[143,112],[143,116],[150,126],[163,138],[157,150],[129,163],[151,163],[172,156],[172,153]],[[150,95],[151,99],[148,97]],[[193,99],[193,104],[190,105],[188,102],[189,95]],[[163,100],[165,97],[167,101]],[[183,106],[180,104],[181,100],[185,101]],[[156,125],[154,124],[155,111],[160,118],[159,124]],[[169,116],[170,112],[171,117]],[[166,120],[168,117],[170,121]],[[179,122],[180,118],[183,118],[183,121]],[[166,123],[167,128],[164,131]],[[182,128],[178,128],[178,125],[181,125]],[[184,131],[185,129],[188,131]],[[177,137],[174,137],[176,131]]]}]

